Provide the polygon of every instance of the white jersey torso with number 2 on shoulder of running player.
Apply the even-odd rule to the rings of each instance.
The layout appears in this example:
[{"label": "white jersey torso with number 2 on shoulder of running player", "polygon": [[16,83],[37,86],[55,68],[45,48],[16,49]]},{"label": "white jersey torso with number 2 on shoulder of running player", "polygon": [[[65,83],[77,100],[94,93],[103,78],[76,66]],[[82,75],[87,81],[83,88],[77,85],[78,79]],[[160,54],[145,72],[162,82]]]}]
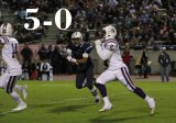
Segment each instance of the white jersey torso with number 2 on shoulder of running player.
[{"label": "white jersey torso with number 2 on shoulder of running player", "polygon": [[112,55],[109,56],[109,67],[108,69],[110,70],[117,70],[121,67],[124,67],[125,64],[122,60],[120,49],[119,49],[119,44],[116,38],[109,38],[106,42],[102,43],[102,51],[111,51]]}]

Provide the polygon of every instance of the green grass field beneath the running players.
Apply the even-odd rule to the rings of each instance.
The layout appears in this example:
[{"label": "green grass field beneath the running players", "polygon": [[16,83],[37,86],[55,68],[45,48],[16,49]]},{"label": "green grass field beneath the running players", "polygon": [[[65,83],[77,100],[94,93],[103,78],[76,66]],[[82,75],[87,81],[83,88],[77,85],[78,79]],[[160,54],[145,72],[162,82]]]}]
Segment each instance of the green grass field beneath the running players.
[{"label": "green grass field beneath the running players", "polygon": [[73,81],[19,81],[28,85],[28,109],[9,112],[16,103],[0,90],[0,123],[176,123],[176,82],[136,82],[155,98],[156,113],[120,83],[107,85],[113,109],[98,112],[88,89],[76,89]]}]

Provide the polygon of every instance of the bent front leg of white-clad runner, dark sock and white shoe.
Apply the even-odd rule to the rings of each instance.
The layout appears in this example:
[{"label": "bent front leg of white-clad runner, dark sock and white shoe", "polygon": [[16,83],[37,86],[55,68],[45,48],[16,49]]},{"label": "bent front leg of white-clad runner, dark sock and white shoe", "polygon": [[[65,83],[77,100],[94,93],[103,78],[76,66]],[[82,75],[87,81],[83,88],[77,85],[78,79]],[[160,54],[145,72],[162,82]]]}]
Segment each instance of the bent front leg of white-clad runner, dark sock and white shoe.
[{"label": "bent front leg of white-clad runner, dark sock and white shoe", "polygon": [[107,94],[107,88],[106,88],[106,83],[108,81],[114,80],[116,76],[113,75],[113,72],[111,70],[106,70],[103,71],[98,78],[97,78],[97,88],[100,91],[100,94],[103,99],[105,105],[102,107],[102,109],[100,109],[99,111],[107,111],[110,110],[112,108],[112,104],[108,98]]}]

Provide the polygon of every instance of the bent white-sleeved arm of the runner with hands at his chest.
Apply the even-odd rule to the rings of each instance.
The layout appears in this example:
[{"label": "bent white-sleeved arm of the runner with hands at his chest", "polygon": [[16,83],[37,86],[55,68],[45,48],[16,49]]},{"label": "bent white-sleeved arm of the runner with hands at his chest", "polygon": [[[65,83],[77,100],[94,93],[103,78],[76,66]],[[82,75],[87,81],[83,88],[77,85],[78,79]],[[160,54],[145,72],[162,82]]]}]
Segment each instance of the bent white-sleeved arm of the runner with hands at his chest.
[{"label": "bent white-sleeved arm of the runner with hands at his chest", "polygon": [[106,46],[105,49],[102,49],[102,47],[101,47],[101,41],[100,41],[100,40],[97,40],[97,41],[95,42],[95,44],[96,44],[97,54],[99,55],[99,57],[100,57],[102,60],[108,59],[108,58],[112,55],[112,53],[113,53],[113,47],[114,47],[113,44],[110,44],[110,43],[107,44],[107,46]]}]

